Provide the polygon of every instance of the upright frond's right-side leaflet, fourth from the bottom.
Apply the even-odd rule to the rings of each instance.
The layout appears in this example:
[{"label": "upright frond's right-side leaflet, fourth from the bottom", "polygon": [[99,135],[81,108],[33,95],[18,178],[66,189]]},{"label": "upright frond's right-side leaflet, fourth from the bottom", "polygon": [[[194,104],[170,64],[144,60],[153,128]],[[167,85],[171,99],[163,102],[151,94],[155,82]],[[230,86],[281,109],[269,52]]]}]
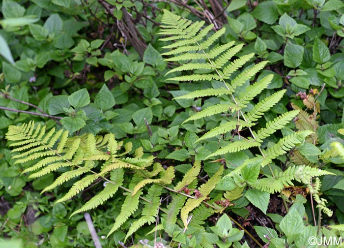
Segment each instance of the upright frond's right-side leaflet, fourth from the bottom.
[{"label": "upright frond's right-side leaflet, fourth from the bottom", "polygon": [[286,90],[282,90],[276,92],[263,100],[259,101],[253,109],[246,114],[246,121],[249,122],[256,122],[260,116],[264,114],[264,112],[268,111],[270,108],[275,106],[278,103],[283,95],[286,93]]}]

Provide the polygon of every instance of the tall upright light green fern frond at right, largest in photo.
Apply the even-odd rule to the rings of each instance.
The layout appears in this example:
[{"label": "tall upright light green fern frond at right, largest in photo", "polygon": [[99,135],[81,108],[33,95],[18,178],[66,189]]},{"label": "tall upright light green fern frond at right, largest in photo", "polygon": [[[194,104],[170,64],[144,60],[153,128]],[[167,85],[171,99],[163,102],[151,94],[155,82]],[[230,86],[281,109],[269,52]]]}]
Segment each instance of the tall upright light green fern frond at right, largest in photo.
[{"label": "tall upright light green fern frond at right, largest in photo", "polygon": [[[269,193],[280,192],[285,185],[293,185],[292,180],[301,182],[302,178],[309,175],[316,177],[331,174],[304,164],[291,165],[286,171],[282,171],[273,163],[275,158],[303,143],[306,137],[314,136],[313,131],[290,132],[275,145],[263,149],[266,147],[267,138],[286,127],[300,112],[299,109],[295,109],[267,122],[264,120],[264,113],[281,100],[286,90],[280,90],[253,104],[252,100],[267,89],[273,79],[273,75],[270,74],[250,84],[268,61],[255,64],[252,62],[254,53],[240,54],[244,43],[231,41],[219,44],[217,40],[225,34],[225,28],[210,34],[213,25],[202,28],[204,22],[192,22],[168,10],[164,10],[162,23],[161,27],[164,29],[160,34],[168,37],[161,40],[174,41],[164,47],[169,51],[163,55],[169,57],[166,59],[168,62],[180,63],[167,73],[174,75],[169,80],[194,84],[206,82],[207,85],[211,85],[210,88],[175,97],[176,100],[202,98],[203,102],[206,102],[204,97],[213,97],[210,98],[212,101],[204,103],[201,111],[189,116],[183,124],[200,119],[211,122],[210,118],[216,120],[220,114],[223,116],[215,127],[214,124],[209,125],[211,128],[196,141],[219,142],[220,147],[206,159],[250,150],[250,153],[245,153],[245,156],[249,154],[249,157],[241,161],[241,164],[235,164],[233,170],[221,181],[222,187],[219,188],[226,190],[224,197],[227,200],[232,201],[245,195],[254,205],[266,212]],[[241,71],[241,68],[244,69]],[[258,123],[266,124],[265,127],[258,128]],[[265,172],[265,177],[261,178],[261,168],[266,165],[270,172]],[[302,171],[299,178],[293,174],[295,171]],[[244,190],[247,185],[251,189]],[[255,192],[255,197],[250,197],[250,190]],[[264,206],[261,202],[264,202]]]}]

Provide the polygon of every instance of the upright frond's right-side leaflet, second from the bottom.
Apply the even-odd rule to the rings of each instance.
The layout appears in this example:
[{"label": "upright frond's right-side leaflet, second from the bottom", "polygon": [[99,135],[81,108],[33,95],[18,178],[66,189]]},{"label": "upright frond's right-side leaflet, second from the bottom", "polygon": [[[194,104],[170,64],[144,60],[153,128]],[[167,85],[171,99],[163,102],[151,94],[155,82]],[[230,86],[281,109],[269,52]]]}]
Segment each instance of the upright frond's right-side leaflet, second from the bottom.
[{"label": "upright frond's right-side leaflet, second from the bottom", "polygon": [[283,137],[277,142],[277,144],[266,150],[266,155],[261,162],[261,166],[267,165],[271,162],[272,159],[276,158],[279,155],[286,154],[287,151],[290,151],[296,144],[302,143],[303,140],[312,133],[312,131],[305,130],[295,132],[286,137]]}]

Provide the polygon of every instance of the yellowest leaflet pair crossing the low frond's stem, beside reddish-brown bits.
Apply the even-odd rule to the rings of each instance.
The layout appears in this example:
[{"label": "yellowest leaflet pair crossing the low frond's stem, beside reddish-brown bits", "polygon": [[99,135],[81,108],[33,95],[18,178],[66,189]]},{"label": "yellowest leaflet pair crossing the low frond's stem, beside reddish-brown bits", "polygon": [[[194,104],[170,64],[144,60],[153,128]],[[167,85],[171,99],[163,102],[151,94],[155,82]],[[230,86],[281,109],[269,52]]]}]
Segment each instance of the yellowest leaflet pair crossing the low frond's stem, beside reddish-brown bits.
[{"label": "yellowest leaflet pair crossing the low frond's stem, beside reddish-brown bits", "polygon": [[207,195],[215,188],[216,184],[220,181],[221,176],[223,173],[223,166],[214,174],[212,178],[208,180],[205,184],[202,184],[199,187],[199,191],[201,193],[201,197],[199,198],[189,198],[184,207],[180,211],[180,218],[183,221],[185,228],[188,228],[187,225],[187,218],[189,213],[197,208],[203,200],[206,199]]}]

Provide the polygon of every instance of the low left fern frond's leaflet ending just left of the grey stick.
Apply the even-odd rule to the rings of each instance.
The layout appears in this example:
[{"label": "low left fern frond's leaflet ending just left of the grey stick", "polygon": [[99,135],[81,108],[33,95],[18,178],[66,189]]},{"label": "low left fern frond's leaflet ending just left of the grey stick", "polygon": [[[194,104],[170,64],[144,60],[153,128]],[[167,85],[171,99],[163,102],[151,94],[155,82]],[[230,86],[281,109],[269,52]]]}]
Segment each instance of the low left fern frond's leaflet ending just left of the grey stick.
[{"label": "low left fern frond's leaflet ending just left of the grey stick", "polygon": [[123,169],[117,169],[117,170],[113,171],[111,175],[112,175],[112,183],[108,183],[100,193],[93,196],[80,209],[74,211],[70,215],[70,217],[72,217],[73,215],[76,215],[78,213],[81,213],[81,212],[84,212],[84,211],[87,211],[90,209],[94,209],[97,206],[103,204],[109,198],[113,197],[113,195],[117,192],[118,187],[122,186],[122,184],[123,184],[124,170]]}]

